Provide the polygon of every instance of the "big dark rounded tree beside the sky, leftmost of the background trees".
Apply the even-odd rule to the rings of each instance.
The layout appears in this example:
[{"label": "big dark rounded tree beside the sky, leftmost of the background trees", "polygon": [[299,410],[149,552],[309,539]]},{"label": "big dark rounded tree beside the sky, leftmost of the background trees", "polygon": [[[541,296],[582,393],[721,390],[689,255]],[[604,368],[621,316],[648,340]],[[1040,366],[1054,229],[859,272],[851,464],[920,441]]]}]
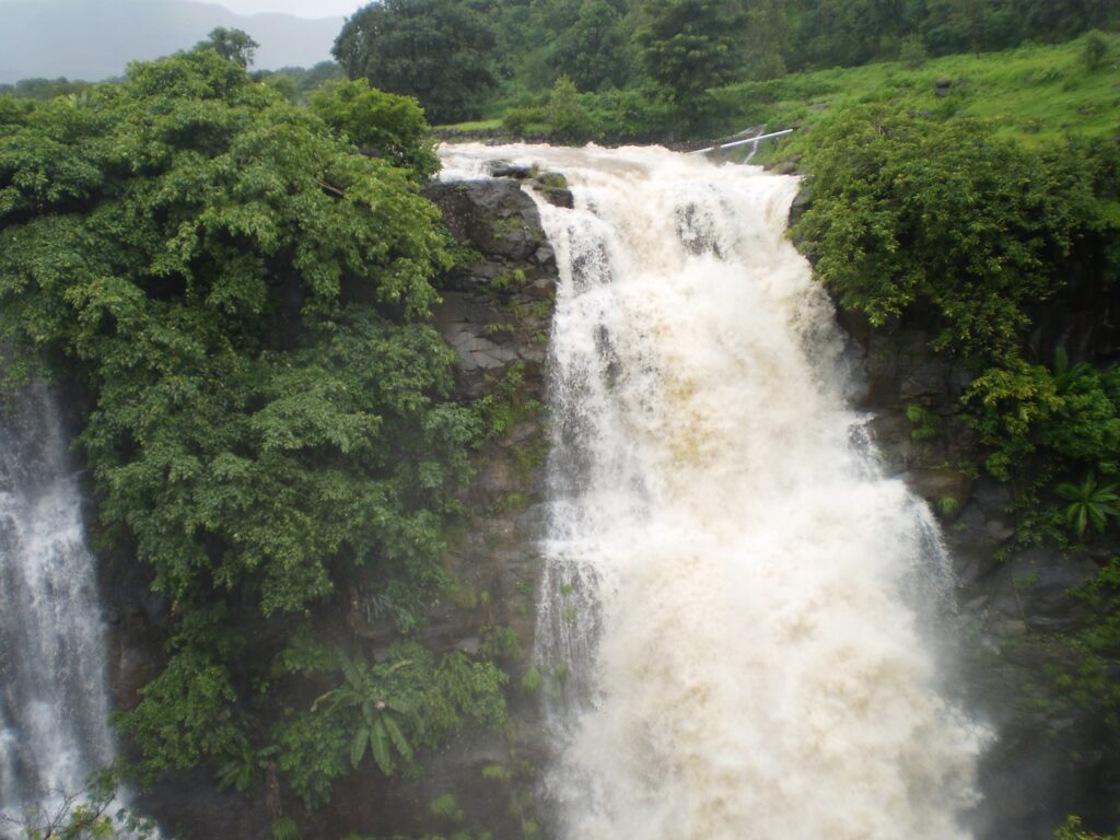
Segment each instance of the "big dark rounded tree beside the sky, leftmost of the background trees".
[{"label": "big dark rounded tree beside the sky, leftmost of the background trees", "polygon": [[332,53],[351,78],[416,96],[433,123],[466,119],[496,84],[494,31],[458,0],[385,0],[355,12]]}]

